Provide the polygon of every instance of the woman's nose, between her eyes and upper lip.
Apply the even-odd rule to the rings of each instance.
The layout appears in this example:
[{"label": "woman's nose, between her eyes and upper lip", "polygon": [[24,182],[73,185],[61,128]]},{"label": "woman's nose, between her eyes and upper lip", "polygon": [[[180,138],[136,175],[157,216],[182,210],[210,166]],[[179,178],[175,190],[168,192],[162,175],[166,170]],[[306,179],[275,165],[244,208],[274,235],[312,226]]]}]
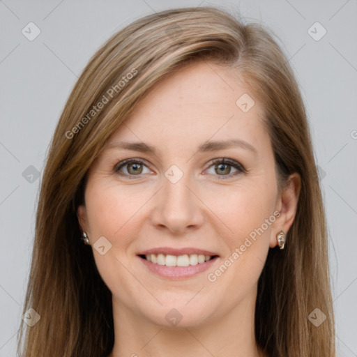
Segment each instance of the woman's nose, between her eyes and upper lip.
[{"label": "woman's nose, between her eyes and upper lip", "polygon": [[189,175],[173,183],[162,178],[162,188],[155,195],[151,222],[155,227],[168,229],[174,234],[184,234],[197,229],[204,222],[202,202]]}]

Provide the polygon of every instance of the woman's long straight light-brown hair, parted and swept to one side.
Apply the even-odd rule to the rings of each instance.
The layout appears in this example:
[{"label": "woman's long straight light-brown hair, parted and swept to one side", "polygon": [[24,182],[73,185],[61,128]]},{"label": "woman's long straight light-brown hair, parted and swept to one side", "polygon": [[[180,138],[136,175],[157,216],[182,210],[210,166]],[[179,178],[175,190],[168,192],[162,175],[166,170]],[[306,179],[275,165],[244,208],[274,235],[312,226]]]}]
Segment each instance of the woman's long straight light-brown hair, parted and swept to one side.
[{"label": "woman's long straight light-brown hair, parted and swept to one side", "polygon": [[[94,54],[75,84],[40,188],[23,311],[33,308],[40,320],[32,327],[21,321],[21,355],[97,357],[112,350],[112,294],[91,247],[79,239],[76,210],[83,203],[86,172],[151,86],[193,60],[234,68],[247,79],[265,109],[280,187],[289,174],[301,175],[289,243],[280,254],[269,250],[259,278],[257,345],[274,357],[335,356],[326,220],[298,84],[269,31],[212,7],[136,20]],[[326,315],[319,326],[308,318],[314,309]]]}]

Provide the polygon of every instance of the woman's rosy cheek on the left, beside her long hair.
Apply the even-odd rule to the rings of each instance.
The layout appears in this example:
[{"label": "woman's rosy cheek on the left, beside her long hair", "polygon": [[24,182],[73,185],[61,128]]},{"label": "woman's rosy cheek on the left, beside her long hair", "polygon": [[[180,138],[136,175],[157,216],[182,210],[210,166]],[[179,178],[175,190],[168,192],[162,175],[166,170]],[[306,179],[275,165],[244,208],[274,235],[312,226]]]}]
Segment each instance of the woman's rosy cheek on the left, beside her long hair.
[{"label": "woman's rosy cheek on the left, beside her long hair", "polygon": [[[128,305],[135,295],[135,289],[140,289],[139,283],[128,271],[132,271],[132,242],[142,227],[139,224],[139,208],[149,198],[145,196],[143,192],[129,192],[115,183],[103,184],[99,180],[93,180],[86,189],[86,207],[96,266],[114,296],[121,296]],[[95,246],[101,236],[111,243],[105,255],[100,255]]]}]

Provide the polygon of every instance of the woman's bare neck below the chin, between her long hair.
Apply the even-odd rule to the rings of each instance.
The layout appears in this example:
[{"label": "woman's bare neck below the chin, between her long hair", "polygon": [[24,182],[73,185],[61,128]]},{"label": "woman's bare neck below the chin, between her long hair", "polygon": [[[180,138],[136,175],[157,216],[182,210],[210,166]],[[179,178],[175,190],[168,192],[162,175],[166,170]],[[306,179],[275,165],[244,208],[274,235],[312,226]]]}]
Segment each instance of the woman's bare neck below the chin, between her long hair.
[{"label": "woman's bare neck below the chin, between her long hair", "polygon": [[255,342],[254,316],[255,298],[247,296],[225,316],[200,326],[179,323],[170,329],[138,317],[113,299],[115,340],[108,357],[265,356]]}]

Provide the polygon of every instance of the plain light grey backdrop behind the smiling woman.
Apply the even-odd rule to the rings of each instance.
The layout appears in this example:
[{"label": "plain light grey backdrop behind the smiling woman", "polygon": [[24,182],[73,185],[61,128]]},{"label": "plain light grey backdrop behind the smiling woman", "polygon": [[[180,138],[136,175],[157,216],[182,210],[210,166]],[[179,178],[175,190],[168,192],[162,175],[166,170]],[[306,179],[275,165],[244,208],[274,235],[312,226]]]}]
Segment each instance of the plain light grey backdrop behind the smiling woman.
[{"label": "plain light grey backdrop behind the smiling woman", "polygon": [[[266,24],[282,40],[296,72],[328,217],[338,355],[357,356],[357,1],[5,0],[0,1],[0,357],[15,356],[41,178],[36,172],[43,172],[77,76],[112,33],[138,17],[205,5],[239,10],[246,20]],[[22,34],[29,22],[41,31],[33,41]],[[320,40],[307,32],[315,22],[327,31]],[[310,31],[315,37],[322,33],[316,26]]]}]

